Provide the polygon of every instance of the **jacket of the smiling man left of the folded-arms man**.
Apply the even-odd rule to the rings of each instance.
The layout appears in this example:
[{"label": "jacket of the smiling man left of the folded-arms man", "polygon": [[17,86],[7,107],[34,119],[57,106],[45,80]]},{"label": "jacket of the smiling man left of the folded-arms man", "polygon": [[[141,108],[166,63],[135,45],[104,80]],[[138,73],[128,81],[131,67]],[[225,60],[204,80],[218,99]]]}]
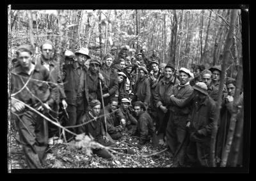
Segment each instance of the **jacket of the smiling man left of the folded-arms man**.
[{"label": "jacket of the smiling man left of the folded-arms man", "polygon": [[175,80],[174,83],[174,76],[172,77],[172,80],[170,80],[169,83],[166,82],[165,77],[159,80],[157,83],[156,91],[153,94],[154,96],[154,102],[156,103],[156,107],[159,106],[168,106],[170,105],[170,102],[168,103],[167,97],[170,97],[173,94],[173,87],[174,85],[177,85],[179,83],[179,80]]}]

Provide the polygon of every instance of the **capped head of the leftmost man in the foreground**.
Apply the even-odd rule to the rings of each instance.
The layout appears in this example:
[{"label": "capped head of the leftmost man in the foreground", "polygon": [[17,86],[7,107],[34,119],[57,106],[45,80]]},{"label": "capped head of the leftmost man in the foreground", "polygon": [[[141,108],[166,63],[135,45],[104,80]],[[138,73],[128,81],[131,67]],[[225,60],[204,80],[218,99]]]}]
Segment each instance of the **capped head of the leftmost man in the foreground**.
[{"label": "capped head of the leftmost man in the foreground", "polygon": [[19,61],[22,68],[30,68],[33,60],[33,47],[31,45],[20,45],[17,49],[17,61]]}]

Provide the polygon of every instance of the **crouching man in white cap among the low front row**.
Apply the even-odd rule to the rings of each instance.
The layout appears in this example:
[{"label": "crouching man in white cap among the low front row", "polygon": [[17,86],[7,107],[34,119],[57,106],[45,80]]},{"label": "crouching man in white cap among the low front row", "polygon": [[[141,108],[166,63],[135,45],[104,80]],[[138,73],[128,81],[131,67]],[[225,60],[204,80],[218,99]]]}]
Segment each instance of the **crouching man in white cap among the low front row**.
[{"label": "crouching man in white cap among the low front row", "polygon": [[135,117],[132,116],[132,113],[129,109],[131,102],[127,98],[121,100],[121,112],[123,113],[126,124],[125,124],[125,133],[128,136],[133,136],[137,131],[138,121]]}]

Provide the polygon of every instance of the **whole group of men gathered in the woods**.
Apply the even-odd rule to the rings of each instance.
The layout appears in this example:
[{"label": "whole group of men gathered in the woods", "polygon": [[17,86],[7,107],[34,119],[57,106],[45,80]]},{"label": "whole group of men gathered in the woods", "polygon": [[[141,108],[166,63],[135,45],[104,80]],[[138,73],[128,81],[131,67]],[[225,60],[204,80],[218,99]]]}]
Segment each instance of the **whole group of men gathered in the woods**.
[{"label": "whole group of men gathered in the woods", "polygon": [[[91,58],[88,48],[55,55],[49,40],[40,49],[42,54],[35,58],[33,47],[21,45],[12,68],[12,112],[29,168],[43,168],[45,150],[54,137],[64,133],[68,141],[74,139],[74,134],[60,133],[58,126],[40,114],[72,133],[90,134],[108,147],[115,147],[111,140],[122,136],[139,136],[140,145],[144,145],[157,134],[168,143],[173,166],[209,166],[220,66],[209,70],[198,66],[195,76],[180,68],[177,75],[172,63],[160,63],[156,50],[147,57],[145,50],[136,55],[125,46],[119,52],[112,47],[100,60]],[[56,61],[58,58],[63,64]],[[220,158],[235,85],[234,79],[227,78],[222,91],[221,116],[225,117],[219,122]],[[94,149],[93,153],[111,157],[104,149]]]}]

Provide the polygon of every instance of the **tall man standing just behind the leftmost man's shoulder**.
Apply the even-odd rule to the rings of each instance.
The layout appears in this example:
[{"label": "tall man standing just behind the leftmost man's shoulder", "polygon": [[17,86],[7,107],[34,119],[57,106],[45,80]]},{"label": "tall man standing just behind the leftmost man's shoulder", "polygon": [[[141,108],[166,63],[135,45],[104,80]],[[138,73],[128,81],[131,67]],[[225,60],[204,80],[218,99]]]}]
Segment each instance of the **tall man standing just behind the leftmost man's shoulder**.
[{"label": "tall man standing just behind the leftmost man's shoulder", "polygon": [[[42,43],[40,46],[42,55],[37,57],[36,64],[41,64],[44,66],[51,76],[51,82],[56,83],[58,85],[58,94],[56,94],[56,101],[54,102],[54,105],[52,106],[52,112],[50,112],[51,116],[54,118],[54,121],[56,122],[56,119],[58,119],[58,112],[59,112],[59,103],[62,103],[64,108],[67,108],[67,102],[65,101],[66,95],[64,92],[63,87],[63,81],[61,77],[61,71],[60,71],[60,61],[57,59],[62,59],[61,55],[54,55],[54,45],[52,41],[46,40]],[[48,124],[49,129],[49,145],[53,144],[53,138],[55,136],[58,136],[60,133],[60,130],[57,126],[55,126],[52,123]]]}]

